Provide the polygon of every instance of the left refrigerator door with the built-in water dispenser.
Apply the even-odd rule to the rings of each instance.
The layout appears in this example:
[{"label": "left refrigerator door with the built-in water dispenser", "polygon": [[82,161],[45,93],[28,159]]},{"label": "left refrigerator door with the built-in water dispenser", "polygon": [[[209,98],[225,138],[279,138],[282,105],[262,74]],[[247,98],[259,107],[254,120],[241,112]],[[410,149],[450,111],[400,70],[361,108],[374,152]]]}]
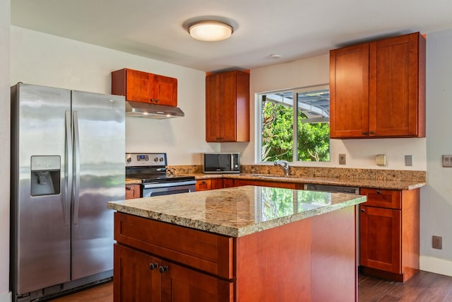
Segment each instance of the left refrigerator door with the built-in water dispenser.
[{"label": "left refrigerator door with the built-in water dispenser", "polygon": [[[11,88],[11,287],[17,294],[70,279],[70,110],[71,91]],[[69,120],[69,135],[70,127]]]}]

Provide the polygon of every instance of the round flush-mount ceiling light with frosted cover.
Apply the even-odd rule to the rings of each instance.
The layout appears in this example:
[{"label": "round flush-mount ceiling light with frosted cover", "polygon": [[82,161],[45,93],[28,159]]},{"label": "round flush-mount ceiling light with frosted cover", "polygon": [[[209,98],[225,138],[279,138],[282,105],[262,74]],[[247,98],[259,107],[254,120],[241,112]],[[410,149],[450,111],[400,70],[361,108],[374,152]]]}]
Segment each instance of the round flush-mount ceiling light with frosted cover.
[{"label": "round flush-mount ceiling light with frosted cover", "polygon": [[189,25],[188,30],[196,40],[208,42],[225,40],[234,33],[232,25],[214,20],[196,21]]}]

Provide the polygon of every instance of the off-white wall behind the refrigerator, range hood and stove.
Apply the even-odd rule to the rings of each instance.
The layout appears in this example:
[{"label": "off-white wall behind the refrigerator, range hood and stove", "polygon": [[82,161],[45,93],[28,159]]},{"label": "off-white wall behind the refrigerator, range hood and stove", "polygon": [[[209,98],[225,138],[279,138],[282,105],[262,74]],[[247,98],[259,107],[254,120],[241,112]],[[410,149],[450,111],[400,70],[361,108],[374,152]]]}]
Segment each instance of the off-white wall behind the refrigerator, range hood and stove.
[{"label": "off-white wall behind the refrigerator, range hood and stove", "polygon": [[126,117],[126,151],[167,152],[169,165],[201,164],[201,152],[217,151],[218,144],[205,141],[203,71],[11,26],[11,85],[110,93],[110,72],[125,67],[177,78],[185,113],[168,120]]}]

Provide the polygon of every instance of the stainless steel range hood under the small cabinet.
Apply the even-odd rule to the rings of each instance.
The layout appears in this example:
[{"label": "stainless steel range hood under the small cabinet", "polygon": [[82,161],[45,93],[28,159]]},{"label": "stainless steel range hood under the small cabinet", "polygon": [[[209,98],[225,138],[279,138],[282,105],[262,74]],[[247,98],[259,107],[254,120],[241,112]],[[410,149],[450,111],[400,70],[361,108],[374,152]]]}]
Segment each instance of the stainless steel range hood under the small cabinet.
[{"label": "stainless steel range hood under the small cabinet", "polygon": [[129,100],[126,102],[126,115],[129,117],[146,117],[149,119],[168,119],[171,117],[183,117],[184,112],[177,107]]}]

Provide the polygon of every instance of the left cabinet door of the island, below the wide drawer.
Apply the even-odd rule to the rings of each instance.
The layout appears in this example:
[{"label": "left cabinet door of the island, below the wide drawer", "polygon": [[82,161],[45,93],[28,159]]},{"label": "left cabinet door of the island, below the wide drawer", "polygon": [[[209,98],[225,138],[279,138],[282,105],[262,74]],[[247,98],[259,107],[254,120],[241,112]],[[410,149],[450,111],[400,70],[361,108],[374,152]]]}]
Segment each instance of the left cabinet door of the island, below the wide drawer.
[{"label": "left cabinet door of the island, below the wide drawer", "polygon": [[155,257],[115,244],[114,302],[162,301],[160,265]]}]

